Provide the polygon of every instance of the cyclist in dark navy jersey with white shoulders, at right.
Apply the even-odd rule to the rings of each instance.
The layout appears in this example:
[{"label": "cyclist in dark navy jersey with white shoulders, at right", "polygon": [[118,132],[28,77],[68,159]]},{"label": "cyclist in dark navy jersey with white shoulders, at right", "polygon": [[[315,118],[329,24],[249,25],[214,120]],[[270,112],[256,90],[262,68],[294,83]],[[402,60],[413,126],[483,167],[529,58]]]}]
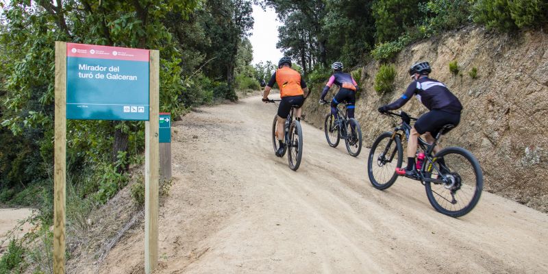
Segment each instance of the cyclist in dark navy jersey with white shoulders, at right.
[{"label": "cyclist in dark navy jersey with white shoulders, at right", "polygon": [[[407,168],[396,168],[398,175],[416,178],[415,171],[415,154],[419,136],[425,134],[426,141],[434,142],[434,138],[438,135],[441,127],[447,124],[457,126],[460,122],[460,112],[462,105],[458,98],[449,91],[449,89],[441,82],[428,77],[432,73],[428,62],[417,62],[409,69],[413,82],[408,86],[406,92],[399,99],[388,105],[383,105],[379,108],[379,112],[384,113],[388,110],[397,110],[407,103],[416,95],[423,105],[429,110],[423,114],[414,123],[407,145]],[[436,145],[433,149],[434,153],[440,151],[440,145]],[[439,159],[440,166],[445,166],[445,160]]]}]

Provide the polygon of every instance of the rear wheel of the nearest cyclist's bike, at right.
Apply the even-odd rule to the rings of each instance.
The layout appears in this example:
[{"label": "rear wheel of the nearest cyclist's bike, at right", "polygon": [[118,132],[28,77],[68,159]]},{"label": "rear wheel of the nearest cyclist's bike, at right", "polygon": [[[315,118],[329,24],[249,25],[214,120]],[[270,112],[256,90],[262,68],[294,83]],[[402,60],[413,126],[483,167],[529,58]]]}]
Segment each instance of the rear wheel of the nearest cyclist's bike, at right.
[{"label": "rear wheel of the nearest cyclist's bike, at right", "polygon": [[[445,160],[445,166],[438,161]],[[469,213],[482,195],[482,168],[472,153],[461,147],[447,147],[436,153],[434,165],[427,163],[432,178],[445,177],[447,183],[426,182],[428,201],[440,213],[460,217]],[[441,174],[440,174],[441,173]]]}]

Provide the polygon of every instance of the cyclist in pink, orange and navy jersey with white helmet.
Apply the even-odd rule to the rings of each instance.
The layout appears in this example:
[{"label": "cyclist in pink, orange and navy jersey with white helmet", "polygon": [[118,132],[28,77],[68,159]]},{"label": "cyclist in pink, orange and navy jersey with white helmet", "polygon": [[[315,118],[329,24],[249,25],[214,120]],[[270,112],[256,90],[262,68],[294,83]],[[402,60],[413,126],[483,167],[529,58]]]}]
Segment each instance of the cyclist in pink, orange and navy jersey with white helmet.
[{"label": "cyclist in pink, orange and navy jersey with white helmet", "polygon": [[333,69],[333,75],[327,80],[327,84],[323,87],[321,92],[320,103],[325,104],[325,95],[329,89],[336,84],[339,87],[337,94],[331,100],[331,114],[338,119],[337,105],[339,103],[349,103],[347,106],[348,118],[354,118],[354,109],[356,108],[356,90],[358,90],[358,84],[356,80],[352,78],[349,73],[343,73],[343,63],[334,62],[331,65]]}]

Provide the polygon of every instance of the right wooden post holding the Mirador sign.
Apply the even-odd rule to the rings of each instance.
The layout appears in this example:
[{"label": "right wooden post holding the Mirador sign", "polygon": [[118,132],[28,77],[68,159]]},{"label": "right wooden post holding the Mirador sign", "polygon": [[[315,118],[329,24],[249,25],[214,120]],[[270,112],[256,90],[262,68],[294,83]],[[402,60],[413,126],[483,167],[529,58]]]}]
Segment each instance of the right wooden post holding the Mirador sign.
[{"label": "right wooden post holding the Mirador sign", "polygon": [[150,51],[149,121],[145,122],[145,273],[158,266],[160,52]]}]

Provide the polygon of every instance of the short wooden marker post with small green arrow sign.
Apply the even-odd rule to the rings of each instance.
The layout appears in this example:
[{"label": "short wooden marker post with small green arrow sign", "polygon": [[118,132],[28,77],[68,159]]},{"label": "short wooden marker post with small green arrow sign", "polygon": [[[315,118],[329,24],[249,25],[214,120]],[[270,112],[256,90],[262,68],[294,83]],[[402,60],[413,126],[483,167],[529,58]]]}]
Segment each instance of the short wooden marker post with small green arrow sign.
[{"label": "short wooden marker post with small green arrow sign", "polygon": [[171,179],[171,113],[160,112],[160,181]]}]

